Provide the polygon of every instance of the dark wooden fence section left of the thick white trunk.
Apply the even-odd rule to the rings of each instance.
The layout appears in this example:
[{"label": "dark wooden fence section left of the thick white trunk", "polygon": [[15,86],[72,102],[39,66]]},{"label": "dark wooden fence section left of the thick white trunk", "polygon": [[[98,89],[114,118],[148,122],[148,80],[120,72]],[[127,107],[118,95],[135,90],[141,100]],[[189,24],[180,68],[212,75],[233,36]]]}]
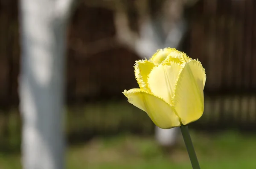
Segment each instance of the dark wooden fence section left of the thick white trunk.
[{"label": "dark wooden fence section left of the thick white trunk", "polygon": [[0,0],[0,105],[17,103],[19,33],[17,0]]}]

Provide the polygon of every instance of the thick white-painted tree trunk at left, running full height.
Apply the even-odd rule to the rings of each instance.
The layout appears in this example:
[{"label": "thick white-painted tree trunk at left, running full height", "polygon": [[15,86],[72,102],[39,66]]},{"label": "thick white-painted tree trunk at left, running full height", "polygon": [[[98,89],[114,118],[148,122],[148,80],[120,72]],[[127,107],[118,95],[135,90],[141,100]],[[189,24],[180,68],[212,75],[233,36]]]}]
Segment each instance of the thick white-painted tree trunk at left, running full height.
[{"label": "thick white-painted tree trunk at left, running full height", "polygon": [[22,164],[64,169],[64,65],[71,0],[21,0]]}]

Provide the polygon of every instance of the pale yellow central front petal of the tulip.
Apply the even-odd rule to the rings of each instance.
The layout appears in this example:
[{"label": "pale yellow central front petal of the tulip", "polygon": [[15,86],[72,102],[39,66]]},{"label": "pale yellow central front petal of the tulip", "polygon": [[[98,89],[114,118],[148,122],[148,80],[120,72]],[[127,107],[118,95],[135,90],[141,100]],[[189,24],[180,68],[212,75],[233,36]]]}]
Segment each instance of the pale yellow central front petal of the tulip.
[{"label": "pale yellow central front petal of the tulip", "polygon": [[182,68],[180,64],[175,62],[171,62],[170,65],[160,64],[154,67],[148,75],[148,86],[151,92],[172,104],[177,78]]}]

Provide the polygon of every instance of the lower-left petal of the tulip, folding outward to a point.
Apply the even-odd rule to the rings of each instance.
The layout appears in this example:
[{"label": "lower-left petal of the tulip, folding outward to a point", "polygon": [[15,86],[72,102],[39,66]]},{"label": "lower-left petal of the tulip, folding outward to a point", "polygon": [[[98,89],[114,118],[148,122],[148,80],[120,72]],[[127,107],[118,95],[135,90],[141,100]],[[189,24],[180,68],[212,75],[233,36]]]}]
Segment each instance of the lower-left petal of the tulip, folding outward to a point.
[{"label": "lower-left petal of the tulip, folding outward to a point", "polygon": [[171,105],[162,98],[152,95],[143,89],[130,89],[123,94],[128,102],[145,111],[155,125],[162,129],[180,126],[179,117]]}]

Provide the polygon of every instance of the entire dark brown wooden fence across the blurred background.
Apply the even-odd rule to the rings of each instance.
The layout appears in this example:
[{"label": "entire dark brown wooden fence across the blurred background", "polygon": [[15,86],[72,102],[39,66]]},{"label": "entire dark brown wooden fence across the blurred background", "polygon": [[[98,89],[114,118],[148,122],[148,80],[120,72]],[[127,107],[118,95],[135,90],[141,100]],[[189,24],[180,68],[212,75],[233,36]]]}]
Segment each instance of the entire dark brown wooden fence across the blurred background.
[{"label": "entire dark brown wooden fence across the blurred background", "polygon": [[[256,1],[200,0],[187,13],[190,26],[183,44],[185,52],[201,60],[207,72],[205,113],[195,126],[255,128]],[[114,34],[111,11],[83,4],[76,10],[68,34],[67,103],[125,100],[122,90],[137,87],[133,65],[138,56],[116,45]],[[103,43],[108,43],[108,48],[100,48]],[[0,0],[1,109],[18,104],[18,72],[17,1]],[[98,117],[102,118],[95,115]],[[137,117],[130,120],[133,118]],[[141,127],[149,124],[140,123]]]}]

